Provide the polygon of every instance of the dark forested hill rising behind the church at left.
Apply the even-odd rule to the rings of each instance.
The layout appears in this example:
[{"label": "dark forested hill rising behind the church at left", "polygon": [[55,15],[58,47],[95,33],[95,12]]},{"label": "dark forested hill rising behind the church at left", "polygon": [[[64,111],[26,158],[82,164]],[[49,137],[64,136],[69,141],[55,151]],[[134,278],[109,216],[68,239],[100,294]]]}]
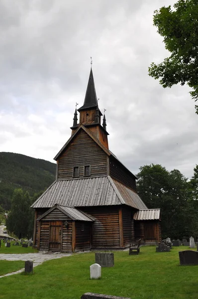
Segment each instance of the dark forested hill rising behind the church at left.
[{"label": "dark forested hill rising behind the church at left", "polygon": [[43,159],[28,157],[13,152],[0,152],[0,205],[11,207],[15,188],[27,190],[32,196],[55,180],[56,164]]}]

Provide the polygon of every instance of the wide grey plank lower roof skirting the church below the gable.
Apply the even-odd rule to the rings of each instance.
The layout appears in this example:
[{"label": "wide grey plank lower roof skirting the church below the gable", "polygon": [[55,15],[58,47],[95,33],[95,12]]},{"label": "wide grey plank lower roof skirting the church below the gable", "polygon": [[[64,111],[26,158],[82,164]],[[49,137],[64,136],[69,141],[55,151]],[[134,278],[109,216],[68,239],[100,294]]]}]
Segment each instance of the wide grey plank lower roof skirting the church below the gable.
[{"label": "wide grey plank lower roof skirting the church below the gable", "polygon": [[55,204],[70,207],[126,204],[147,209],[138,194],[110,176],[56,180],[32,208],[51,208]]}]

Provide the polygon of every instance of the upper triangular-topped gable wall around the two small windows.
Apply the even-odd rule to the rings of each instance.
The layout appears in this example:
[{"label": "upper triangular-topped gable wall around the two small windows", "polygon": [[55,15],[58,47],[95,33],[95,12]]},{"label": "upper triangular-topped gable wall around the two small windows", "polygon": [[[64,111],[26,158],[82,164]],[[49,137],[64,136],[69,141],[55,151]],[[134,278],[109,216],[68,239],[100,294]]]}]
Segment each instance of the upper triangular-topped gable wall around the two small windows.
[{"label": "upper triangular-topped gable wall around the two small windows", "polygon": [[85,165],[91,165],[91,177],[106,175],[105,152],[81,130],[59,157],[58,179],[72,178],[74,166],[79,166],[80,177],[83,177]]}]

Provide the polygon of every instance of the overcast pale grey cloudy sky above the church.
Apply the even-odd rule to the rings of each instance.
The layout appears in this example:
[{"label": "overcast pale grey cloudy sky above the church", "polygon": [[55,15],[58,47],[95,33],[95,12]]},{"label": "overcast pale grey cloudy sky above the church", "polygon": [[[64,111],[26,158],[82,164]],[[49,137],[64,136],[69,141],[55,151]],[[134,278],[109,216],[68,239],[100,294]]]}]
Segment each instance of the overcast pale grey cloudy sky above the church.
[{"label": "overcast pale grey cloudy sky above the church", "polygon": [[193,175],[198,115],[187,86],[148,76],[169,53],[153,11],[176,0],[0,0],[0,151],[54,161],[83,105],[90,56],[109,149]]}]

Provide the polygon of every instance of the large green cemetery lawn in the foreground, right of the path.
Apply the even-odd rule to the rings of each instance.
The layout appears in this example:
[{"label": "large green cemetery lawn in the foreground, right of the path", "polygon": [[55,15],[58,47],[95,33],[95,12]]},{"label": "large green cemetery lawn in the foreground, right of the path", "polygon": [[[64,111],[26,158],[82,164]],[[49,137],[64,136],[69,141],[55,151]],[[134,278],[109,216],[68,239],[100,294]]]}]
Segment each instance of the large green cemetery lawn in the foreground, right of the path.
[{"label": "large green cemetery lawn in the foreground, right of the path", "polygon": [[[114,252],[114,267],[102,268],[101,279],[90,279],[95,253],[74,254],[37,266],[33,275],[0,279],[0,299],[80,299],[84,293],[131,299],[197,299],[198,266],[180,266],[179,251],[156,253],[154,246],[140,248],[139,255]],[[0,261],[1,262],[1,261]]]}]

